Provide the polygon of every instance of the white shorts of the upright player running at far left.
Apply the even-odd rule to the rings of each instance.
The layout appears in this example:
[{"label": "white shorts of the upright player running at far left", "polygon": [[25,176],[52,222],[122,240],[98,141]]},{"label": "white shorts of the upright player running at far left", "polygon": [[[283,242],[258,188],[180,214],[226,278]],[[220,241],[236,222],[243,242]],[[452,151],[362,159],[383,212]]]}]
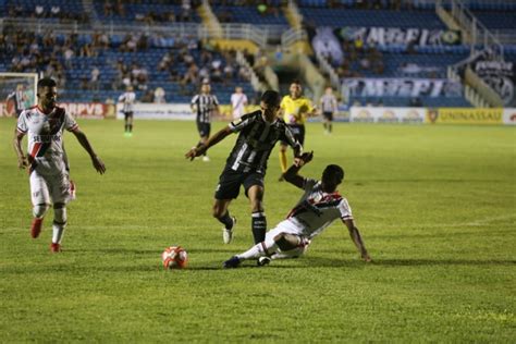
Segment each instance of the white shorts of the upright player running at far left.
[{"label": "white shorts of the upright player running at far left", "polygon": [[41,174],[36,169],[30,173],[29,182],[33,206],[70,201],[70,179],[65,171],[57,174]]}]

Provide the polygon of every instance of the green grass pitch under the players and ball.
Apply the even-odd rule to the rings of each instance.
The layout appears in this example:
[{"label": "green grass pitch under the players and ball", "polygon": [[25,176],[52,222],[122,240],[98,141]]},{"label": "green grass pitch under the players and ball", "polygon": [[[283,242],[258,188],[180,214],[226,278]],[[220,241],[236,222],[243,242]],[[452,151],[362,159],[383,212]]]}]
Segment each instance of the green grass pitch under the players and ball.
[{"label": "green grass pitch under the players and ball", "polygon": [[[513,342],[516,337],[516,131],[501,126],[308,124],[318,177],[345,168],[340,191],[373,263],[359,260],[342,223],[297,260],[266,268],[222,261],[251,244],[247,199],[231,245],[210,216],[231,136],[189,162],[192,122],[81,121],[107,164],[98,175],[65,134],[77,199],[64,251],[49,253],[52,214],[29,237],[26,173],[0,120],[1,342]],[[216,123],[214,130],[222,127]],[[278,148],[266,179],[272,228],[300,193],[279,183]],[[182,245],[189,267],[164,271]]]}]

